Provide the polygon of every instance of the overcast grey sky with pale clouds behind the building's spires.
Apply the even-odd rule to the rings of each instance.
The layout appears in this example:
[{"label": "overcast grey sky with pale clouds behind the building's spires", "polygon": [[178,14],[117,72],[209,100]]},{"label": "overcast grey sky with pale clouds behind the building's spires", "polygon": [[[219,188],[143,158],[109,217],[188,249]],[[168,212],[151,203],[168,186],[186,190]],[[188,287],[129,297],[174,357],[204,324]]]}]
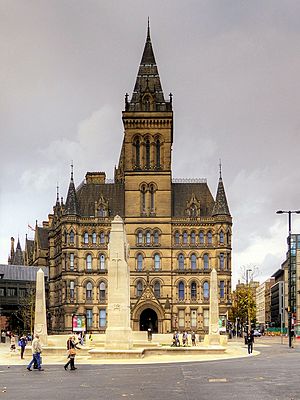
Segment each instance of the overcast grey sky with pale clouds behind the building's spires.
[{"label": "overcast grey sky with pale clouds behind the building's spires", "polygon": [[[66,198],[70,164],[113,178],[150,18],[165,98],[173,94],[173,178],[219,159],[233,217],[233,285],[285,259],[300,209],[298,0],[0,0],[0,263]],[[292,219],[300,233],[300,215]]]}]

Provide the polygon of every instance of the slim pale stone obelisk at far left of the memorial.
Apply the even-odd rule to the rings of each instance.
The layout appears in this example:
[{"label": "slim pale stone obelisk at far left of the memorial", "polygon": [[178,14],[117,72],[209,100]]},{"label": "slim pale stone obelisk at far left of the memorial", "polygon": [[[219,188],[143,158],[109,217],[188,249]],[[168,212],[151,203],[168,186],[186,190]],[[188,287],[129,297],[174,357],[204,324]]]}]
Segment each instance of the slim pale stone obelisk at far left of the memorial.
[{"label": "slim pale stone obelisk at far left of the memorial", "polygon": [[38,334],[40,336],[41,343],[44,346],[47,346],[48,335],[45,297],[45,274],[41,268],[36,274],[34,334]]}]

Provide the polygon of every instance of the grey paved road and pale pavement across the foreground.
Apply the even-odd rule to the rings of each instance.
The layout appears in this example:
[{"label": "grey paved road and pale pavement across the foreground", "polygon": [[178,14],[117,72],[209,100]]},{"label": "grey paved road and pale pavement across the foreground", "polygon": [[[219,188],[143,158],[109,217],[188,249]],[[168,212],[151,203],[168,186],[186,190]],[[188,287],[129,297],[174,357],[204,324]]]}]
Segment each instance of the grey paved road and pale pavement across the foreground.
[{"label": "grey paved road and pale pavement across the foreground", "polygon": [[281,344],[262,338],[256,340],[253,356],[242,341],[229,347],[235,349],[234,357],[213,360],[178,356],[103,364],[78,357],[76,371],[64,371],[65,358],[52,357],[44,360],[43,372],[29,372],[29,357],[19,360],[1,345],[0,399],[300,400],[300,346],[289,349],[286,339]]}]

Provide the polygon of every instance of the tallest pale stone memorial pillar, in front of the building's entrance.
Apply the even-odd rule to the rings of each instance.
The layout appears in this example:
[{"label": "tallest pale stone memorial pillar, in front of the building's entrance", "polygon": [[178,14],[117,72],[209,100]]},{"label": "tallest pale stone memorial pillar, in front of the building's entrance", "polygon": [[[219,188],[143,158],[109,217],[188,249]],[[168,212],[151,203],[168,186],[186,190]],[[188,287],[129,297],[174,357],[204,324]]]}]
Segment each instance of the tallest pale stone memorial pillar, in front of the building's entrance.
[{"label": "tallest pale stone memorial pillar, in front of the building's entrance", "polygon": [[130,271],[127,264],[129,246],[123,220],[118,215],[111,223],[108,250],[108,305],[105,348],[107,350],[129,350],[132,348]]}]

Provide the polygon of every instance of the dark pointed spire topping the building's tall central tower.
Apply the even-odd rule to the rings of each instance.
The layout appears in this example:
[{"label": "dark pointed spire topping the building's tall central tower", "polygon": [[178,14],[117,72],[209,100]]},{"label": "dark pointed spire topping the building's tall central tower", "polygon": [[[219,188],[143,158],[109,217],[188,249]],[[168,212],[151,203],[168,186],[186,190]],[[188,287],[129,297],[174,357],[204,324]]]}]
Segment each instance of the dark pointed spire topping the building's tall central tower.
[{"label": "dark pointed spire topping the building's tall central tower", "polygon": [[165,101],[150,37],[148,19],[147,37],[136,78],[132,98],[125,96],[126,111],[171,111],[172,101]]}]

